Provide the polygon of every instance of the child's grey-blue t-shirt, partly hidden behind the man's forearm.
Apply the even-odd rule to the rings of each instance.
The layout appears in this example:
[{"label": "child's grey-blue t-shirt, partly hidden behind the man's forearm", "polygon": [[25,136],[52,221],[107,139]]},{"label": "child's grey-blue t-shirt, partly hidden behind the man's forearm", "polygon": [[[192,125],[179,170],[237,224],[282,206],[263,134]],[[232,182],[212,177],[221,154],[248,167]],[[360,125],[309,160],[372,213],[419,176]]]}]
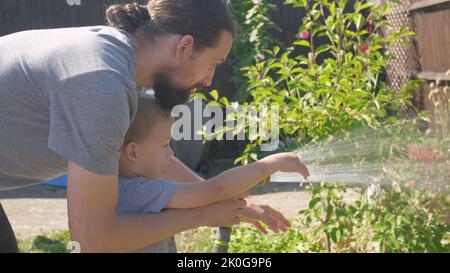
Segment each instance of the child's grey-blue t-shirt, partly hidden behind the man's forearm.
[{"label": "child's grey-blue t-shirt, partly hidden behind the man's forearm", "polygon": [[[144,177],[119,179],[119,214],[160,213],[178,188],[178,183],[167,180],[149,180]],[[174,253],[177,252],[172,236],[136,252]]]}]

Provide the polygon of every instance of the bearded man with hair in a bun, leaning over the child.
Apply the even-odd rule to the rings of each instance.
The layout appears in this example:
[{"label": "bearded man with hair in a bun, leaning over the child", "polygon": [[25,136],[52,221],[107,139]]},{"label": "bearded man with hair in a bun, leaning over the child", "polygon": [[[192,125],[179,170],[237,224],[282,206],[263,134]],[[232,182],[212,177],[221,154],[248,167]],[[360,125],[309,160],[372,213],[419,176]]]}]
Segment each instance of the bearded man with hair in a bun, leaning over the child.
[{"label": "bearded man with hair in a bun, leaning over the child", "polygon": [[[267,206],[231,199],[152,215],[118,215],[118,160],[137,108],[155,90],[170,109],[208,86],[230,52],[234,25],[222,0],[114,5],[109,26],[19,32],[0,38],[0,190],[68,174],[68,216],[83,252],[125,252],[199,226],[241,218],[286,230]],[[200,179],[172,158],[168,180]],[[242,215],[243,208],[246,215]],[[0,205],[0,252],[17,252]]]}]

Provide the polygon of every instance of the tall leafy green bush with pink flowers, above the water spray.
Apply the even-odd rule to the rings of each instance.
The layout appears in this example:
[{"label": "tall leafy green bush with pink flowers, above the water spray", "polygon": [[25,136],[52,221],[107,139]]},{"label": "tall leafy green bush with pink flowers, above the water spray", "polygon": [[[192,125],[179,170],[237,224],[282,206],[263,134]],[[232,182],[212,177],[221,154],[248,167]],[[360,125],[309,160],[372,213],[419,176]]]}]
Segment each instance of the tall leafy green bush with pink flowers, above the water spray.
[{"label": "tall leafy green bush with pink flowers, above the water spray", "polygon": [[[402,92],[391,92],[379,79],[392,57],[384,50],[386,46],[398,45],[414,34],[401,28],[382,35],[381,28],[389,27],[385,19],[389,2],[377,6],[356,1],[353,7],[345,0],[286,3],[307,11],[298,40],[285,50],[265,50],[264,60],[243,69],[251,96],[251,101],[242,105],[243,110],[279,106],[282,141],[302,145],[352,127],[375,128],[391,113],[411,106],[410,94],[417,82],[411,82]],[[368,18],[363,11],[370,11]],[[326,42],[315,46],[317,39]],[[307,48],[309,54],[295,56],[297,47]],[[215,104],[229,105],[227,100],[213,97]],[[236,115],[227,117],[229,121],[237,119]],[[246,164],[257,159],[255,152],[264,137],[251,136],[236,162]]]}]

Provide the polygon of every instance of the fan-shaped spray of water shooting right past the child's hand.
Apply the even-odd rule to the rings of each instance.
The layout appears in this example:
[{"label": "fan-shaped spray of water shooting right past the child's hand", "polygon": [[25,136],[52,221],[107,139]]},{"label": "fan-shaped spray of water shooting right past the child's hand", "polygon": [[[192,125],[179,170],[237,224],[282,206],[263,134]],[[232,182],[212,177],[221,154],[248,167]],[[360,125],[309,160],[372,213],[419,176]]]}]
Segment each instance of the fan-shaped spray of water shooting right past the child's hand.
[{"label": "fan-shaped spray of water shooting right past the child's hand", "polygon": [[308,166],[308,181],[295,173],[275,173],[271,182],[340,182],[348,185],[406,184],[448,188],[450,145],[434,145],[418,130],[406,127],[358,128],[295,150]]}]

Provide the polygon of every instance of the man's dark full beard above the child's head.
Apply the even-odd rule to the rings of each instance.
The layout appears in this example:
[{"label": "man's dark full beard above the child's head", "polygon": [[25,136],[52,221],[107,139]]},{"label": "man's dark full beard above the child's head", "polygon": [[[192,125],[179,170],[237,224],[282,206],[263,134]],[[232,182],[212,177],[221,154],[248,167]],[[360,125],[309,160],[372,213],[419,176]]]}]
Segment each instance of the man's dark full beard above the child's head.
[{"label": "man's dark full beard above the child's head", "polygon": [[166,74],[156,77],[153,90],[158,103],[166,110],[172,111],[174,106],[186,103],[196,87],[178,87],[169,80],[169,76]]}]

